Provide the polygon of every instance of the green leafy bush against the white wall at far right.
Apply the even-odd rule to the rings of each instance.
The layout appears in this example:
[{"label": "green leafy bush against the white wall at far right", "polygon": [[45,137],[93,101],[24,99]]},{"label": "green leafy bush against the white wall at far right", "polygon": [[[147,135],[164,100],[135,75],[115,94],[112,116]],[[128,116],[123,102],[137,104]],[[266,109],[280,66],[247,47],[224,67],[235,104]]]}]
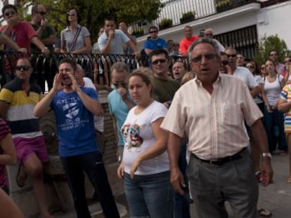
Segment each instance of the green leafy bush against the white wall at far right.
[{"label": "green leafy bush against the white wall at far right", "polygon": [[258,64],[263,64],[269,59],[269,53],[271,50],[277,50],[279,53],[279,62],[283,62],[284,57],[291,55],[291,51],[287,49],[287,45],[283,39],[275,36],[264,36],[259,40],[259,46],[257,48],[257,55],[254,60]]}]

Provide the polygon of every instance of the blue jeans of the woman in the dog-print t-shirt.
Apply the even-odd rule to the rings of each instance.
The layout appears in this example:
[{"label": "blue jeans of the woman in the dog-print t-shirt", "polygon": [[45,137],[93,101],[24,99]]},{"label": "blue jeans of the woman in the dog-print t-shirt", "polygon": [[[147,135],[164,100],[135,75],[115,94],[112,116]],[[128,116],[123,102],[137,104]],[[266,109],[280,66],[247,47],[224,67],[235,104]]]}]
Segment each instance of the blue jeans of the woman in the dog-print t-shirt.
[{"label": "blue jeans of the woman in the dog-print t-shirt", "polygon": [[169,182],[169,171],[153,175],[124,176],[125,196],[131,218],[173,217],[173,193]]}]

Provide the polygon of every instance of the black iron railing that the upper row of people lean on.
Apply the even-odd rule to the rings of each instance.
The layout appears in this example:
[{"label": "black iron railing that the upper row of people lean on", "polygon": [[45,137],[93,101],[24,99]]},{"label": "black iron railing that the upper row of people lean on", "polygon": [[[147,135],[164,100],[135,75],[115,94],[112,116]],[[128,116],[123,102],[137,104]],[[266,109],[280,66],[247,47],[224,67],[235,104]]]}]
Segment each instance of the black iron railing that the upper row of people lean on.
[{"label": "black iron railing that the upper row of people lean on", "polygon": [[[6,84],[10,79],[13,79],[14,74],[8,75],[8,70],[15,71],[16,60],[20,57],[19,53],[0,52],[0,78],[1,87]],[[136,58],[134,55],[101,55],[101,54],[53,54],[49,57],[44,57],[41,53],[31,53],[29,55],[34,69],[32,78],[37,81],[41,89],[45,92],[50,90],[53,86],[53,78],[58,71],[58,62],[65,57],[70,57],[77,61],[86,72],[86,76],[93,80],[93,73],[96,73],[95,83],[101,85],[110,85],[110,68],[114,62],[125,62],[128,64],[129,69],[133,71],[138,67],[150,67],[150,60],[148,56],[141,56]],[[188,60],[185,57],[171,56],[170,57],[170,69],[172,63],[176,61],[185,62],[188,66]],[[47,88],[45,86],[47,84]]]}]

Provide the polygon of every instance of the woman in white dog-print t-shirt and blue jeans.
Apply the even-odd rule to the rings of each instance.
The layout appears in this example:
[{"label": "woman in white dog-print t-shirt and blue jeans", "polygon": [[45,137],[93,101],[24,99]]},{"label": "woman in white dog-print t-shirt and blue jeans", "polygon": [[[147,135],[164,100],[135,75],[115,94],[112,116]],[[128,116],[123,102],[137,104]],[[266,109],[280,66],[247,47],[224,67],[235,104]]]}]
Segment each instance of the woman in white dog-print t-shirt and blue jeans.
[{"label": "woman in white dog-print t-shirt and blue jeans", "polygon": [[131,217],[167,218],[173,216],[173,189],[167,132],[160,128],[167,108],[153,100],[149,75],[149,70],[140,68],[129,76],[129,93],[136,107],[121,129],[124,156],[117,174],[124,179]]}]

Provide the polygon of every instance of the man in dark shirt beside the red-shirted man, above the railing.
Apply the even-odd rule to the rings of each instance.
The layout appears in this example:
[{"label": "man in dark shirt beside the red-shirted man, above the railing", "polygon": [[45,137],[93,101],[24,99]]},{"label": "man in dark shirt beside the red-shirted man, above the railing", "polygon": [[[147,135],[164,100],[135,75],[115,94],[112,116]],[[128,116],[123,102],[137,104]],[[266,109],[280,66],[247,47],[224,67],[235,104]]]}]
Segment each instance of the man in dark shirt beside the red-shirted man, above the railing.
[{"label": "man in dark shirt beside the red-shirted man, above the railing", "polygon": [[[46,19],[46,8],[41,4],[36,4],[32,6],[32,21],[30,22],[37,36],[44,43],[46,48],[53,53],[53,45],[56,44],[57,36],[53,30],[53,27],[48,25],[48,20]],[[32,52],[39,52],[39,48],[33,43],[31,44]]]}]

